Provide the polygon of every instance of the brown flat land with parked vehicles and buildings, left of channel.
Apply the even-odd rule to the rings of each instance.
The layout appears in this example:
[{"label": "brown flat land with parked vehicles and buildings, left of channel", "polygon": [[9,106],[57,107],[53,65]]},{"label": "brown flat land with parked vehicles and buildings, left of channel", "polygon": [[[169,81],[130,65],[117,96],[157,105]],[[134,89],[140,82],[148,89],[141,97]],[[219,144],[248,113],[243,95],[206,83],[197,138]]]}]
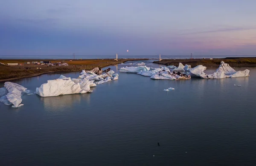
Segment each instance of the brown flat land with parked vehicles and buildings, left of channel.
[{"label": "brown flat land with parked vehicles and buildings, left of channel", "polygon": [[[72,61],[69,59],[0,59],[0,62],[5,64],[0,64],[0,82],[39,76],[45,73],[91,70],[96,67],[103,68],[109,65],[135,60],[148,59],[118,59],[118,61],[114,59],[73,59]],[[31,64],[33,61],[61,62],[67,63],[69,66],[35,65]],[[30,62],[30,64],[24,64],[25,62]],[[18,66],[7,66],[7,63],[18,63]]]}]

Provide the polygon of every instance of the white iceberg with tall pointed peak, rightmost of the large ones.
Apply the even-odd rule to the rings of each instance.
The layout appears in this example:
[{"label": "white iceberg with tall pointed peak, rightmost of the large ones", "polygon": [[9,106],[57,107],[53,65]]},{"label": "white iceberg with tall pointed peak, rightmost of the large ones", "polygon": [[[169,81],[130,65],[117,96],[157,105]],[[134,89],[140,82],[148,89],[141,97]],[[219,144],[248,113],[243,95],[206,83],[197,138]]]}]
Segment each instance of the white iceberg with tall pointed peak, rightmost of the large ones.
[{"label": "white iceberg with tall pointed peak, rightmost of the large ones", "polygon": [[204,73],[206,67],[203,65],[198,65],[195,68],[191,68],[189,71],[196,76],[199,76],[203,79],[223,79],[223,78],[232,78],[232,77],[246,77],[249,76],[250,70],[246,69],[244,71],[236,71],[230,67],[229,64],[221,61],[219,68],[213,74]]}]

